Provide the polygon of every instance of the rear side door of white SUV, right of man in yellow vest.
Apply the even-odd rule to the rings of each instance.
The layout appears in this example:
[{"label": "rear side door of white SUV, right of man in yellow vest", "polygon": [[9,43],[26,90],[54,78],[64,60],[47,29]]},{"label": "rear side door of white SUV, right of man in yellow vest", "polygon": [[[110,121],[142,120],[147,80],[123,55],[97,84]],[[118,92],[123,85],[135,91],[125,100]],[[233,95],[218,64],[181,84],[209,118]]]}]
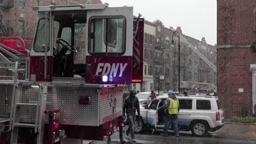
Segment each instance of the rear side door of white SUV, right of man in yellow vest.
[{"label": "rear side door of white SUV, right of man in yellow vest", "polygon": [[191,98],[178,98],[179,100],[179,113],[178,113],[178,125],[179,128],[187,129],[191,121],[194,119],[193,99]]}]

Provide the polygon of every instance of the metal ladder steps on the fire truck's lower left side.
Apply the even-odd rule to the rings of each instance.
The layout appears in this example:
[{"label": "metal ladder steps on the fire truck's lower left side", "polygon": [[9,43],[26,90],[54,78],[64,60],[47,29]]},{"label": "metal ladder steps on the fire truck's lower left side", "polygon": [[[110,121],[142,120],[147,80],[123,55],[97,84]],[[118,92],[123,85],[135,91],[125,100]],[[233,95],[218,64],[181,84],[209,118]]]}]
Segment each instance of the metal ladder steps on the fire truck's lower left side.
[{"label": "metal ladder steps on the fire truck's lower left side", "polygon": [[[37,86],[36,86],[37,87]],[[34,133],[37,134],[37,142],[43,143],[43,134],[44,134],[44,121],[45,114],[43,111],[46,107],[46,94],[47,94],[47,85],[39,84],[38,86],[38,100],[37,104],[34,103],[21,103],[22,97],[22,83],[14,83],[13,96],[11,101],[11,113],[10,113],[10,127],[11,130],[11,141],[10,143],[18,143],[18,131],[19,128],[34,128]],[[36,122],[35,123],[21,123],[19,122],[19,116],[21,113],[20,108],[32,106],[37,107],[36,110]]]}]

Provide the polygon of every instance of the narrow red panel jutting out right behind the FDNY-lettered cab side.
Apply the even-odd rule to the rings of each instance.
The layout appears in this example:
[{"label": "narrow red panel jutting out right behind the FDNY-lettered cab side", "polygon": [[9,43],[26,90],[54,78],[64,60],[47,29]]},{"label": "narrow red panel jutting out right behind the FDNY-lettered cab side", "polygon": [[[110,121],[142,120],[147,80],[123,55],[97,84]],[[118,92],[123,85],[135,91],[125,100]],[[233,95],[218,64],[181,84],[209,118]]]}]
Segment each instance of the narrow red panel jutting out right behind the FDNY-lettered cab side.
[{"label": "narrow red panel jutting out right behind the FDNY-lettered cab side", "polygon": [[[140,15],[139,15],[140,16]],[[144,19],[133,19],[132,82],[143,81]]]}]

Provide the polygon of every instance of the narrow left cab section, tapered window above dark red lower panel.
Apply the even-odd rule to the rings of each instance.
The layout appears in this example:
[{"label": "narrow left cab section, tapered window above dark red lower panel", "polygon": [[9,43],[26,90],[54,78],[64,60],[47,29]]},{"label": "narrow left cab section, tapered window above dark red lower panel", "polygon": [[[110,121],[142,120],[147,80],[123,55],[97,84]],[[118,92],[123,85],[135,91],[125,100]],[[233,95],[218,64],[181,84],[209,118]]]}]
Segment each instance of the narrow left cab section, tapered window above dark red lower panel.
[{"label": "narrow left cab section, tapered window above dark red lower panel", "polygon": [[53,61],[51,54],[51,16],[48,12],[38,14],[37,30],[30,57],[30,80],[50,81],[52,70],[49,64]]}]

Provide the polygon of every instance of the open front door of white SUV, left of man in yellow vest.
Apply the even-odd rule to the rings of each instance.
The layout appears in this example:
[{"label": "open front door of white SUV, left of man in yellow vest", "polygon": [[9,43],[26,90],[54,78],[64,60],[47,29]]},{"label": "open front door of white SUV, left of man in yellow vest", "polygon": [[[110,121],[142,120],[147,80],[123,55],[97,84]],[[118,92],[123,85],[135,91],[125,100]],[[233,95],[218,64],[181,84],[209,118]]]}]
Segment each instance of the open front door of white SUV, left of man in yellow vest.
[{"label": "open front door of white SUV, left of man in yellow vest", "polygon": [[147,123],[154,127],[156,127],[158,121],[158,112],[156,111],[156,108],[158,107],[159,100],[160,99],[154,99],[147,110]]}]

